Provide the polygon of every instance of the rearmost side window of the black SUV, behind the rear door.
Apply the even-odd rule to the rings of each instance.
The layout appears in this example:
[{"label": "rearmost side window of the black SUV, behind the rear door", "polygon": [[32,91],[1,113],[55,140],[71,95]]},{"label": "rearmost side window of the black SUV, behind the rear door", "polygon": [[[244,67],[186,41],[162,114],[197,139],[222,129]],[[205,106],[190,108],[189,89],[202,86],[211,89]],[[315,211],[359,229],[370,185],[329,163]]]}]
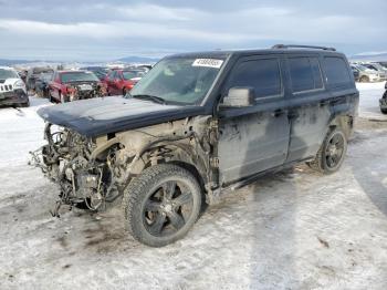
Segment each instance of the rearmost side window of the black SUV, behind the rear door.
[{"label": "rearmost side window of the black SUV, behind the rear door", "polygon": [[324,58],[326,82],[333,86],[351,83],[351,76],[346,62],[342,58]]}]

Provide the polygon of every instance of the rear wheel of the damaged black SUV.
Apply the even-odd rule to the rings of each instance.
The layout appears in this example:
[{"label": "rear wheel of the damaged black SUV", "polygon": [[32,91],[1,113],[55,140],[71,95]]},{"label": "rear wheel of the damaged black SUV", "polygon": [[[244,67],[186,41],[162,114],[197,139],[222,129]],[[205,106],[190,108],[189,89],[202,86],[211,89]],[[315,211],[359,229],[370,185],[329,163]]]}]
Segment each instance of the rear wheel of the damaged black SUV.
[{"label": "rear wheel of the damaged black SUV", "polygon": [[307,165],[320,173],[331,174],[338,170],[347,152],[347,139],[341,128],[334,128],[326,135],[315,158]]}]

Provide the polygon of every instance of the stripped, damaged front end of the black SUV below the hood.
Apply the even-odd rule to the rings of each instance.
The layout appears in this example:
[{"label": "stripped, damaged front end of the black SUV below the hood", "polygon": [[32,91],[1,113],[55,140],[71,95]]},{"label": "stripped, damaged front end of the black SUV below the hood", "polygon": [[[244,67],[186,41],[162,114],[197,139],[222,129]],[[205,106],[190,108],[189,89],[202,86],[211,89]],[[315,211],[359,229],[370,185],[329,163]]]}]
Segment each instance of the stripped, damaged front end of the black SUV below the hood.
[{"label": "stripped, damaged front end of the black SUV below the hood", "polygon": [[195,168],[207,193],[211,193],[218,169],[210,157],[213,132],[207,117],[95,138],[48,123],[48,144],[32,153],[32,163],[59,185],[60,199],[53,216],[59,216],[62,205],[103,210],[122,196],[133,177],[158,163],[175,162]]}]

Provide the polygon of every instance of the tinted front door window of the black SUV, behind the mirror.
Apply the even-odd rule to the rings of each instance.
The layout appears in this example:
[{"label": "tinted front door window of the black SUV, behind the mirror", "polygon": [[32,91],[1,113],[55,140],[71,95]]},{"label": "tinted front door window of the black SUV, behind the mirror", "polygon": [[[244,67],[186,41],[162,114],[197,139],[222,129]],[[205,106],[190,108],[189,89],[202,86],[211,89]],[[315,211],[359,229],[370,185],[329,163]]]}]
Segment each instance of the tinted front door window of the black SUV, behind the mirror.
[{"label": "tinted front door window of the black SUV, behind the mirror", "polygon": [[233,71],[229,87],[251,86],[255,97],[281,94],[280,65],[276,59],[240,63]]}]

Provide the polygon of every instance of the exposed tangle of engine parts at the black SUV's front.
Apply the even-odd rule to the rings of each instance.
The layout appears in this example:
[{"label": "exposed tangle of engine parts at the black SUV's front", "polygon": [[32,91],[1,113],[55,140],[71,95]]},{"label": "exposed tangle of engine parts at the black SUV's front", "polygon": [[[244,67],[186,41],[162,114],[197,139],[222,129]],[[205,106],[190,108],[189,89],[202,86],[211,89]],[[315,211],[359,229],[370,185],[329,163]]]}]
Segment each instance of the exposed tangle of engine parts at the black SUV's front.
[{"label": "exposed tangle of engine parts at the black SUV's front", "polygon": [[93,159],[91,154],[96,144],[67,128],[54,130],[46,124],[44,131],[48,144],[33,154],[35,165],[60,186],[60,200],[53,216],[57,216],[62,204],[84,205],[91,210],[98,209],[113,190],[109,156]]}]

